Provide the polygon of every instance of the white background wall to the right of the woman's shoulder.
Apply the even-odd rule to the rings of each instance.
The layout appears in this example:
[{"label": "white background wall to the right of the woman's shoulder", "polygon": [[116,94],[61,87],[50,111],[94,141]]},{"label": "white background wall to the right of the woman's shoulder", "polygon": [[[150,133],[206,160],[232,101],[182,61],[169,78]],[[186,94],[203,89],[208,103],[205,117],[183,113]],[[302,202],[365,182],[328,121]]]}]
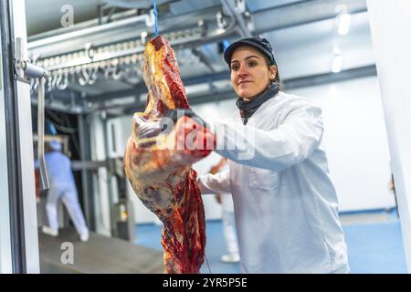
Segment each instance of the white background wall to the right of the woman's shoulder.
[{"label": "white background wall to the right of the woman's shoulder", "polygon": [[322,108],[323,142],[341,211],[395,205],[378,78],[291,90]]}]

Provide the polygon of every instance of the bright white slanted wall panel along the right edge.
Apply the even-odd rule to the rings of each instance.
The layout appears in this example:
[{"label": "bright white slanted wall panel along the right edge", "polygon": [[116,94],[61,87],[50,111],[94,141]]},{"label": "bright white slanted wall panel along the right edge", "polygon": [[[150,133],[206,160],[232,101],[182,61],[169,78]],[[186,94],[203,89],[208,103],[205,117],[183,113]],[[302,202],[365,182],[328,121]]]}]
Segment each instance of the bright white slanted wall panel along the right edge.
[{"label": "bright white slanted wall panel along the right edge", "polygon": [[406,265],[411,272],[411,2],[367,0],[367,7],[393,160]]}]

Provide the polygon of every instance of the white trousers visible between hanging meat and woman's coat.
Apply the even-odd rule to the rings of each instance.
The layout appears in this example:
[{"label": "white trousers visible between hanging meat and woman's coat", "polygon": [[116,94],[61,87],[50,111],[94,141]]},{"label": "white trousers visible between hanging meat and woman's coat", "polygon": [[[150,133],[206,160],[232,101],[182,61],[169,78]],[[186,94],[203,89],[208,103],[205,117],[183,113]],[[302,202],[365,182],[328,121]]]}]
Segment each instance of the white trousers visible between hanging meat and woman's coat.
[{"label": "white trousers visible between hanging meat and woman's coat", "polygon": [[223,207],[223,232],[226,238],[227,251],[230,254],[238,254],[236,220],[234,218],[233,198],[230,194],[221,195]]}]

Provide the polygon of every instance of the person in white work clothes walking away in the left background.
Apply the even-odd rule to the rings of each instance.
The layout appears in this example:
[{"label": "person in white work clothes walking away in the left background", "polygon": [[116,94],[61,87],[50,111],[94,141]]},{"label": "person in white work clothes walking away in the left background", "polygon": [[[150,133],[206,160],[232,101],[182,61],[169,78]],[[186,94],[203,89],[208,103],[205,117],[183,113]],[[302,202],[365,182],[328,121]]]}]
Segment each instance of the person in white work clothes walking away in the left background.
[{"label": "person in white work clothes walking away in the left background", "polygon": [[47,175],[50,188],[47,193],[46,212],[48,226],[43,226],[46,235],[58,236],[58,200],[61,198],[79,234],[81,241],[89,240],[89,228],[79,205],[76,183],[74,182],[71,162],[61,152],[59,141],[49,142],[50,151],[45,153]]}]

